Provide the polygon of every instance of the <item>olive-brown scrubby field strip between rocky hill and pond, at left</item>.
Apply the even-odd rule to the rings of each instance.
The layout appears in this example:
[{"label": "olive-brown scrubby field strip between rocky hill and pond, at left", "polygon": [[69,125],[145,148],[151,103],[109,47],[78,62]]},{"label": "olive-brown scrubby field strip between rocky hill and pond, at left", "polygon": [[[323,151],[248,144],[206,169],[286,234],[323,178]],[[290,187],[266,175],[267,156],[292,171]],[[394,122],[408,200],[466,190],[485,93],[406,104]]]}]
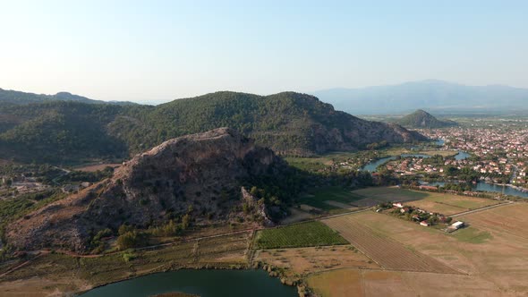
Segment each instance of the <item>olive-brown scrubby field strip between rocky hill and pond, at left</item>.
[{"label": "olive-brown scrubby field strip between rocky hill and pond, at left", "polygon": [[[182,267],[247,267],[250,237],[251,233],[238,233],[155,250],[125,250],[102,257],[43,254],[7,275],[2,276],[0,272],[0,296],[14,292],[20,296],[62,295],[58,292],[67,295],[133,276]],[[13,266],[16,265],[13,263]]]}]

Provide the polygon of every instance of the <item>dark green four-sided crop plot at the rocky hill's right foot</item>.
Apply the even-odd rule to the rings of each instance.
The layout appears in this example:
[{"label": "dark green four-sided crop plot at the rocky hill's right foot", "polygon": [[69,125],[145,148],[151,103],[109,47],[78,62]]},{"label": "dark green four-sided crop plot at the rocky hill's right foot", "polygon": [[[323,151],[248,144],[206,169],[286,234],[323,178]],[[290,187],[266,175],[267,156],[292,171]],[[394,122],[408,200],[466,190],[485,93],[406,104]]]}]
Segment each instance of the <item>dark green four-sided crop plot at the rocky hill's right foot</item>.
[{"label": "dark green four-sided crop plot at the rocky hill's right foot", "polygon": [[316,221],[260,230],[255,236],[254,248],[282,249],[347,243],[339,233]]}]

